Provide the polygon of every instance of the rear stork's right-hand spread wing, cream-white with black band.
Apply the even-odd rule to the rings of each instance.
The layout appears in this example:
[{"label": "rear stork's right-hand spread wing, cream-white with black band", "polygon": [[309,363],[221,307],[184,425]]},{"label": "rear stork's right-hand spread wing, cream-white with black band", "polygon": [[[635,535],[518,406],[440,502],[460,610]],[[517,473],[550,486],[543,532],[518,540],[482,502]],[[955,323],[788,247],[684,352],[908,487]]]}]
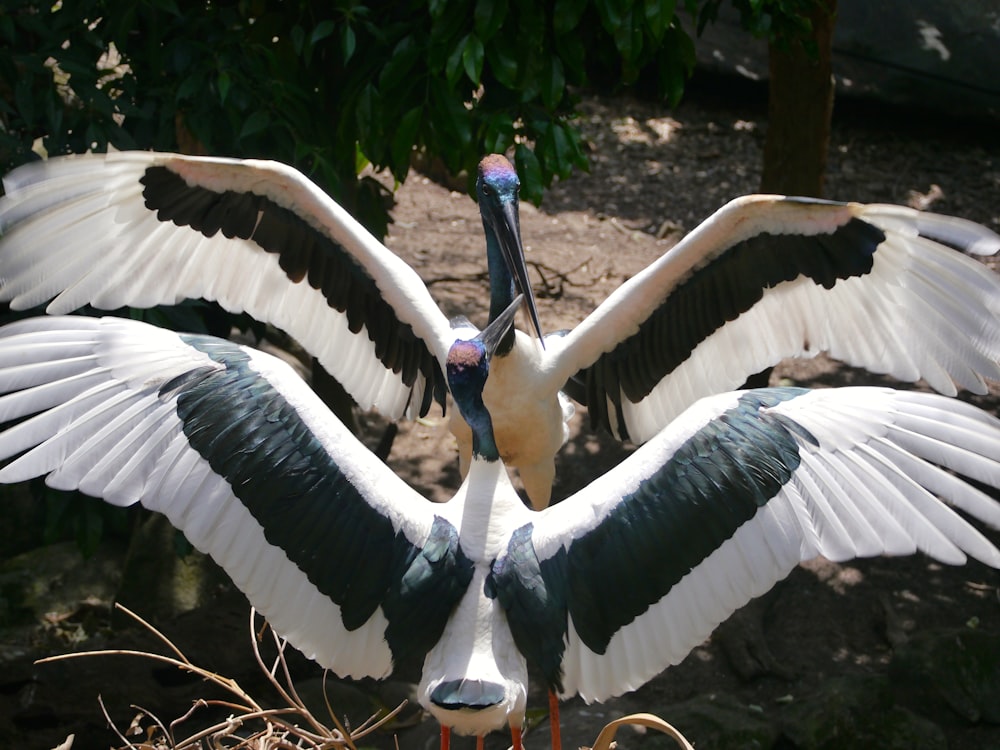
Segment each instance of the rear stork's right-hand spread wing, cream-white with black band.
[{"label": "rear stork's right-hand spread wing, cream-white with black band", "polygon": [[1000,380],[1000,236],[901,206],[752,195],[717,211],[553,340],[591,422],[641,443],[703,396],[828,352],[954,395]]}]

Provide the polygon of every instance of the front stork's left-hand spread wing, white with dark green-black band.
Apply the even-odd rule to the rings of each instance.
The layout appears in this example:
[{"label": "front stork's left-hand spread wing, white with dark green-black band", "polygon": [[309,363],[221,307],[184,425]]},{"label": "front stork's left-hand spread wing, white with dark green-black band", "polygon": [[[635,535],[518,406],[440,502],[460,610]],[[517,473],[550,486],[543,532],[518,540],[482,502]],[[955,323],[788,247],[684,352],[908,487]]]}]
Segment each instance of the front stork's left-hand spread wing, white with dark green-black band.
[{"label": "front stork's left-hand spread wing, white with dark green-black band", "polygon": [[[471,580],[458,532],[285,363],[119,318],[0,329],[0,482],[159,511],[341,675],[422,659]],[[31,416],[34,415],[34,416]],[[28,417],[25,419],[25,417]]]}]

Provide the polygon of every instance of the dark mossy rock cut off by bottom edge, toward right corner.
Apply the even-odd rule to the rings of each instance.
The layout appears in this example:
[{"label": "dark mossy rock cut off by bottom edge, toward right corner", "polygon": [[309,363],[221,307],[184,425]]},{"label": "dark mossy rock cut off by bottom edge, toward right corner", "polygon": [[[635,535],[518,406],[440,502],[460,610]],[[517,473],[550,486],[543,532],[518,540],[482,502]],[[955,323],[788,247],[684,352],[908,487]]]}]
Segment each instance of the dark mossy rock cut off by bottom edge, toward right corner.
[{"label": "dark mossy rock cut off by bottom edge, toward right corner", "polygon": [[[784,739],[799,750],[946,750],[944,731],[893,702],[879,676],[830,680],[782,714]],[[785,747],[786,745],[782,745]]]}]

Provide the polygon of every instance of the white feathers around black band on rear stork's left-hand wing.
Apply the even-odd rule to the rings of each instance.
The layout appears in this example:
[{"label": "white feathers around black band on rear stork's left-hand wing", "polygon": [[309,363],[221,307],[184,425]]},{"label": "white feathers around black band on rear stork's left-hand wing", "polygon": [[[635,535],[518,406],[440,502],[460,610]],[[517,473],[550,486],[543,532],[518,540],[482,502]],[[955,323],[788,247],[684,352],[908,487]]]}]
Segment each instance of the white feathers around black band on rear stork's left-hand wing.
[{"label": "white feathers around black band on rear stork's left-hand wing", "polygon": [[369,337],[350,333],[346,316],[308,283],[291,281],[276,254],[158,220],[139,182],[151,166],[294,210],[351,253],[443,366],[453,337],[417,273],[301,173],[277,162],[112,152],[21,167],[6,178],[0,201],[0,300],[15,310],[48,302],[51,314],[88,303],[116,309],[214,300],[291,334],[362,408],[396,418],[420,403],[422,380],[410,399],[410,389],[376,359]]}]

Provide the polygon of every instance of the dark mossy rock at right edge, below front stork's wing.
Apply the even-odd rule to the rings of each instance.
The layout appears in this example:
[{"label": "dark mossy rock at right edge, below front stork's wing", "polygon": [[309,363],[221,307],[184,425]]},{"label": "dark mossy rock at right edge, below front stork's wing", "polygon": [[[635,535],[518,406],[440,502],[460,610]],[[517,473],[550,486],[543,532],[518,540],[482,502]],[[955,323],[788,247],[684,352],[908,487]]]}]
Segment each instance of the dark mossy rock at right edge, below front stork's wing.
[{"label": "dark mossy rock at right edge, below front stork's wing", "polygon": [[932,630],[898,649],[889,675],[922,712],[947,705],[968,722],[1000,724],[1000,635],[971,628]]}]

